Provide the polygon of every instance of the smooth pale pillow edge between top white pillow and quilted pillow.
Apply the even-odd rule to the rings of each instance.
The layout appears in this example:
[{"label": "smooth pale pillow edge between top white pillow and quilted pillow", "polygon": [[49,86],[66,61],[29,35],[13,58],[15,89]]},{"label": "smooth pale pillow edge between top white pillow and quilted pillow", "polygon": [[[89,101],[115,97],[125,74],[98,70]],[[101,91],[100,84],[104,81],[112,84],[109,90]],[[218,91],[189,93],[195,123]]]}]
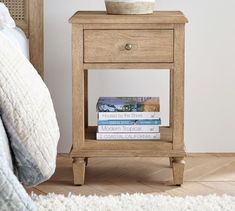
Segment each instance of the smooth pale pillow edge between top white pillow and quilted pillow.
[{"label": "smooth pale pillow edge between top white pillow and quilted pillow", "polygon": [[25,33],[19,28],[4,28],[0,30],[29,59],[29,41]]}]

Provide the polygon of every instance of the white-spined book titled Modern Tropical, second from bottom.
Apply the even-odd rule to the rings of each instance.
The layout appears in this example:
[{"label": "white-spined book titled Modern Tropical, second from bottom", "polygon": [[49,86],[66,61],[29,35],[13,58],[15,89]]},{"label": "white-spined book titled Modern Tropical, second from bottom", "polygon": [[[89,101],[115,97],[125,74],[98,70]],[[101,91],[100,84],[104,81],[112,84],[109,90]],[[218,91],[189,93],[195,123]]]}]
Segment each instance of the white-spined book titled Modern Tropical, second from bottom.
[{"label": "white-spined book titled Modern Tropical, second from bottom", "polygon": [[159,125],[99,125],[100,133],[159,133]]}]

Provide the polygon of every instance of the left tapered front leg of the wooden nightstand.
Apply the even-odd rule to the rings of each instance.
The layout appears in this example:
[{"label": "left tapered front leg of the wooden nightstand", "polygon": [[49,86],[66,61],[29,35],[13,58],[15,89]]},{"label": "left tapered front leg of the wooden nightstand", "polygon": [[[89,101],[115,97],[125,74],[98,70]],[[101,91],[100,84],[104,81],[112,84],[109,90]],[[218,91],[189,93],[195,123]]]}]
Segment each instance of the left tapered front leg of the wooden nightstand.
[{"label": "left tapered front leg of the wooden nightstand", "polygon": [[73,159],[73,176],[74,185],[83,185],[85,180],[85,158],[74,158]]}]

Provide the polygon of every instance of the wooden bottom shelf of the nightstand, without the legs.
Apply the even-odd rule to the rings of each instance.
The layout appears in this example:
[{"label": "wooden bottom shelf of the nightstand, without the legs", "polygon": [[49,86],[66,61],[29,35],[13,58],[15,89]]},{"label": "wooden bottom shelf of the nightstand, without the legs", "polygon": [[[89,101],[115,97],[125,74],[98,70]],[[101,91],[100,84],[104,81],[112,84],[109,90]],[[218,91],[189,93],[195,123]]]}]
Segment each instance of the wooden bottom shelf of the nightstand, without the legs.
[{"label": "wooden bottom shelf of the nightstand, without the legs", "polygon": [[86,129],[85,141],[79,149],[73,148],[72,157],[175,157],[185,156],[181,150],[173,150],[172,129],[161,127],[159,140],[96,140],[97,127]]}]

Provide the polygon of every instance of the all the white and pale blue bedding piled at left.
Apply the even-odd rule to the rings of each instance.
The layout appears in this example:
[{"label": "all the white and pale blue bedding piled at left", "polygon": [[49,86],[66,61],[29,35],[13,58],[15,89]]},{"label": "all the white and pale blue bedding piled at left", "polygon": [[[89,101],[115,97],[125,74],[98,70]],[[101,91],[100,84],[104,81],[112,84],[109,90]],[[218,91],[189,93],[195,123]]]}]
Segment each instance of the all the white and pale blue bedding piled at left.
[{"label": "all the white and pale blue bedding piled at left", "polygon": [[0,2],[0,211],[37,210],[18,179],[36,185],[55,169],[59,130],[53,105],[27,58],[28,40]]}]

